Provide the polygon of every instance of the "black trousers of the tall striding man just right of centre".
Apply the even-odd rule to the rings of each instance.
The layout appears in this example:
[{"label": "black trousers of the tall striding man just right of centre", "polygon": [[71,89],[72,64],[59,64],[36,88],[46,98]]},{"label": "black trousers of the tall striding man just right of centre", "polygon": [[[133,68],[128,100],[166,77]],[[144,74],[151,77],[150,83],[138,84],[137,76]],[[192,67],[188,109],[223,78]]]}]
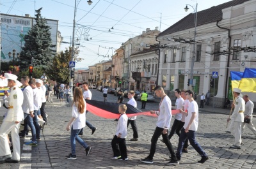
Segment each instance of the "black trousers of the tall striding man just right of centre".
[{"label": "black trousers of the tall striding man just right of centre", "polygon": [[159,128],[159,127],[156,127],[156,130],[151,138],[151,147],[150,147],[150,153],[148,155],[148,158],[149,159],[153,159],[154,157],[154,154],[156,152],[156,143],[157,143],[157,140],[158,138],[162,135],[163,137],[163,140],[164,140],[164,143],[165,145],[167,146],[168,150],[170,151],[171,153],[171,156],[172,156],[172,159],[175,159],[177,160],[176,158],[176,154],[173,150],[173,147],[172,147],[172,143],[170,142],[170,140],[168,139],[168,133],[166,134],[163,134],[163,128]]}]

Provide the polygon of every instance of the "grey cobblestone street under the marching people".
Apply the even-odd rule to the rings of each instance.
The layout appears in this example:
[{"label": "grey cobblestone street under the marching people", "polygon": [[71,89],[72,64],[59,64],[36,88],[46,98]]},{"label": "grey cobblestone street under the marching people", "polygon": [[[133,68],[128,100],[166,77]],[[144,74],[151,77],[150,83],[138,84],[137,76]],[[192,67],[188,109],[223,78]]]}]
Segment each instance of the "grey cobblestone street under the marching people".
[{"label": "grey cobblestone street under the marching people", "polygon": [[[99,91],[92,90],[92,93],[92,99],[103,99],[102,93]],[[108,94],[108,101],[115,102],[116,99],[116,96]],[[46,112],[49,115],[49,120],[42,132],[42,140],[38,141],[38,146],[32,147],[32,151],[26,151],[26,146],[24,149],[23,145],[26,140],[21,139],[22,159],[20,163],[16,165],[1,164],[0,168],[256,168],[256,140],[248,128],[245,129],[246,138],[243,139],[241,150],[229,149],[229,146],[234,143],[234,138],[225,133],[228,115],[203,111],[200,111],[196,139],[209,156],[209,160],[204,164],[197,163],[200,156],[193,147],[189,146],[189,153],[182,154],[179,165],[166,166],[165,163],[169,160],[170,152],[160,140],[157,142],[154,164],[141,163],[140,159],[147,157],[150,151],[150,139],[157,121],[155,117],[145,115],[138,116],[136,120],[139,133],[138,142],[129,141],[132,138],[132,129],[129,126],[126,142],[129,160],[110,159],[113,156],[111,140],[115,135],[117,122],[113,119],[97,117],[91,113],[87,114],[86,119],[97,127],[97,130],[91,135],[92,131],[86,126],[82,138],[92,147],[92,151],[86,157],[83,147],[77,143],[77,159],[68,160],[65,159],[65,156],[70,153],[70,133],[65,128],[71,117],[71,107],[67,107],[64,103],[61,105],[56,99],[54,101],[53,105],[47,103]],[[140,104],[138,101],[138,108],[140,108]],[[146,109],[156,109],[157,105],[158,103],[147,103]],[[3,110],[1,108],[1,116]],[[174,135],[171,142],[176,150],[178,136]],[[31,153],[31,158],[26,156],[27,153]]]}]

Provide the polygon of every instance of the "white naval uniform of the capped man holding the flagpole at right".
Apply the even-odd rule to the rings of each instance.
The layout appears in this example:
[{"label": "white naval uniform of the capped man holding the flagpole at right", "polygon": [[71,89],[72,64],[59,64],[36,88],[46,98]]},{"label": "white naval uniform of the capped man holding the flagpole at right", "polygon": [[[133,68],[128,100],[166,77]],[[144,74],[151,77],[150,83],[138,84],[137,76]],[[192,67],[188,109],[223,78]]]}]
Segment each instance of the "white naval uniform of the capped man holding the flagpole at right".
[{"label": "white naval uniform of the capped man holding the flagpole at right", "polygon": [[244,110],[245,110],[245,102],[241,96],[237,96],[235,99],[235,108],[234,112],[231,115],[230,119],[230,132],[235,137],[234,145],[241,146],[242,139],[241,139],[241,125],[244,122]]}]

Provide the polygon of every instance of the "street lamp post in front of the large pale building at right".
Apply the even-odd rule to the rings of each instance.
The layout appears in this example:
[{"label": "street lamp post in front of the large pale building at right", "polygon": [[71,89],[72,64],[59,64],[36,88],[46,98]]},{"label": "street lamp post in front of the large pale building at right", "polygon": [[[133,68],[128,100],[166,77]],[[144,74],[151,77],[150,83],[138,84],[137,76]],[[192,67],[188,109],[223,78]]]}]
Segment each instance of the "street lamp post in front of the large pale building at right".
[{"label": "street lamp post in front of the large pale building at right", "polygon": [[[188,11],[188,5],[191,6],[190,4],[186,4],[186,8],[184,8],[185,11]],[[193,8],[193,6],[191,6]],[[190,69],[190,80],[189,80],[189,89],[192,90],[193,87],[193,71],[194,71],[194,64],[195,64],[195,55],[196,55],[196,20],[197,20],[197,3],[196,3],[196,9],[193,8],[195,12],[195,32],[194,32],[194,51],[193,51],[193,56],[191,57],[191,69]]]}]

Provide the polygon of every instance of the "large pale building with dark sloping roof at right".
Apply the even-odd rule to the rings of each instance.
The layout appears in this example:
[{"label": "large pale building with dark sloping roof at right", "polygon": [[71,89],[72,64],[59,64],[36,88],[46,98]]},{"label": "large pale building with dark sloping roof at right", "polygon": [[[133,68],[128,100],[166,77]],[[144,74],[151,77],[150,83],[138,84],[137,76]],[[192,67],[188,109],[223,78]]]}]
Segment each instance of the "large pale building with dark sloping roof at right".
[{"label": "large pale building with dark sloping roof at right", "polygon": [[[255,0],[237,0],[198,11],[195,41],[191,40],[195,13],[160,33],[160,45],[168,48],[160,52],[158,84],[168,91],[188,89],[191,58],[195,58],[193,90],[196,94],[211,91],[211,104],[222,107],[225,98],[232,99],[230,71],[256,67],[255,8]],[[218,72],[217,78],[213,72]],[[210,87],[212,79],[214,87]]]}]

